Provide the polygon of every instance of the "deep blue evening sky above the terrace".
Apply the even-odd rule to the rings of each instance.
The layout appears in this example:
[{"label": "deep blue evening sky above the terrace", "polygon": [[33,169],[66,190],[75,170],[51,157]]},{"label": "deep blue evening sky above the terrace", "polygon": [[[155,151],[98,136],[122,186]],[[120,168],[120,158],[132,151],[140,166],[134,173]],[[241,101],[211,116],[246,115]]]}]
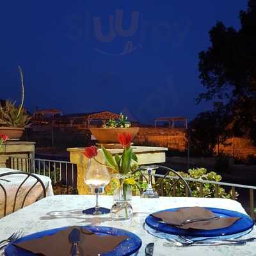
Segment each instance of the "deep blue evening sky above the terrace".
[{"label": "deep blue evening sky above the terrace", "polygon": [[141,122],[193,118],[211,108],[195,105],[203,91],[198,52],[209,47],[217,20],[239,28],[246,6],[246,0],[2,1],[0,99],[20,100],[21,65],[29,111],[127,109]]}]

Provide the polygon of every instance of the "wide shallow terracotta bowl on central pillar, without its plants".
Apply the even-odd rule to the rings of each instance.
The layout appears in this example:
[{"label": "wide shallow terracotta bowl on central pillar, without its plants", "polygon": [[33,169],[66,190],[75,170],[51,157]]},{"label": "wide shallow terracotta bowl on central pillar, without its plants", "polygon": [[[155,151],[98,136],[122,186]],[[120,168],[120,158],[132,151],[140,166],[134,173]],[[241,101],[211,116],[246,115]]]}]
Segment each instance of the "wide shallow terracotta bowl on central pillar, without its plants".
[{"label": "wide shallow terracotta bowl on central pillar, without its plants", "polygon": [[138,133],[140,127],[129,128],[90,128],[93,136],[99,141],[99,143],[110,144],[119,143],[117,134],[122,132],[129,132],[132,134],[132,139]]}]

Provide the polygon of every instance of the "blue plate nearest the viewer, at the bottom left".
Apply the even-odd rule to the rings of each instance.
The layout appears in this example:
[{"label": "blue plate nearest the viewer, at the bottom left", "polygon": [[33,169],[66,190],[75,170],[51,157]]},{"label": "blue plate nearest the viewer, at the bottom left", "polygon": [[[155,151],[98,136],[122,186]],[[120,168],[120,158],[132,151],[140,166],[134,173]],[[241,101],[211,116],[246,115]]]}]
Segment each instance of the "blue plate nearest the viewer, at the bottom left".
[{"label": "blue plate nearest the viewer, at the bottom left", "polygon": [[[32,239],[38,239],[44,236],[51,236],[56,232],[63,230],[68,227],[63,228],[56,228],[51,230],[45,230],[42,232],[38,232],[35,234],[31,234],[29,236],[24,236],[19,240],[15,241],[15,243],[19,243],[22,241],[29,241]],[[83,226],[88,230],[91,230],[95,234],[99,236],[106,236],[106,235],[113,235],[113,236],[127,236],[128,238],[120,243],[113,252],[104,253],[102,256],[128,256],[132,255],[133,253],[138,252],[141,247],[141,239],[140,237],[136,236],[135,234],[128,232],[126,230],[122,230],[119,228],[111,228],[111,227],[100,227],[100,226]],[[36,254],[28,252],[26,250],[20,249],[17,246],[13,245],[12,243],[9,244],[5,249],[6,256],[35,256]]]}]

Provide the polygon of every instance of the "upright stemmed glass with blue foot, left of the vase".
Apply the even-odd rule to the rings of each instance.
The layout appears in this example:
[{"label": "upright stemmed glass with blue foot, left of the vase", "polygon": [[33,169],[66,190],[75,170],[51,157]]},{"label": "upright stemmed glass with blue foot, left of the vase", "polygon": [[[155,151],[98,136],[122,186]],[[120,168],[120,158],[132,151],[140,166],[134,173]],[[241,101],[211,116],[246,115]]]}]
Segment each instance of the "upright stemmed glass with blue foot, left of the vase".
[{"label": "upright stemmed glass with blue foot, left of the vase", "polygon": [[95,207],[83,211],[84,214],[100,215],[109,213],[110,210],[99,206],[99,194],[104,193],[104,188],[110,182],[108,168],[105,165],[97,163],[95,159],[90,159],[88,168],[84,175],[84,183],[88,185],[96,195]]}]

